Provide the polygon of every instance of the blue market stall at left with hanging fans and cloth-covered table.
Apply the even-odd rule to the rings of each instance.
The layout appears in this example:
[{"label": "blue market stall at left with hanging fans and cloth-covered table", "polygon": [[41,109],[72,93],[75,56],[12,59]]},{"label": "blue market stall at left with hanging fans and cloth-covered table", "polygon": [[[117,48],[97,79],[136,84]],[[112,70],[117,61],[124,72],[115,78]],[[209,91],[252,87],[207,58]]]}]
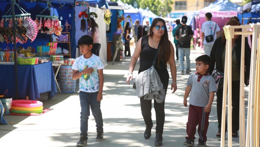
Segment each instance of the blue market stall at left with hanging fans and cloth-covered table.
[{"label": "blue market stall at left with hanging fans and cloth-covered table", "polygon": [[[52,4],[49,1],[46,3],[19,1],[18,4],[14,2],[11,7],[14,10],[11,10],[10,5],[10,1],[1,1],[0,64],[1,69],[5,72],[0,73],[3,83],[0,86],[0,93],[4,93],[8,89],[8,95],[6,95],[8,97],[11,96],[14,99],[29,97],[30,100],[36,100],[40,98],[40,93],[48,92],[48,99],[51,99],[57,90],[52,62],[46,59],[46,55],[56,54],[57,43],[53,42],[50,35],[60,36],[62,33],[62,22],[59,22],[58,17],[59,10],[57,11],[55,7],[61,8],[62,6],[64,11],[69,10],[67,17],[64,18],[68,18],[65,22],[70,23],[71,15],[69,14],[73,13],[74,7],[66,3],[63,5],[60,3]],[[51,15],[49,12],[52,12]],[[62,15],[60,20],[62,20]],[[16,30],[15,35],[13,35],[12,30]],[[16,44],[18,48],[16,48]],[[70,54],[71,52],[66,55],[70,56]],[[42,56],[45,59],[41,59]],[[19,65],[14,63],[16,59]]]}]

